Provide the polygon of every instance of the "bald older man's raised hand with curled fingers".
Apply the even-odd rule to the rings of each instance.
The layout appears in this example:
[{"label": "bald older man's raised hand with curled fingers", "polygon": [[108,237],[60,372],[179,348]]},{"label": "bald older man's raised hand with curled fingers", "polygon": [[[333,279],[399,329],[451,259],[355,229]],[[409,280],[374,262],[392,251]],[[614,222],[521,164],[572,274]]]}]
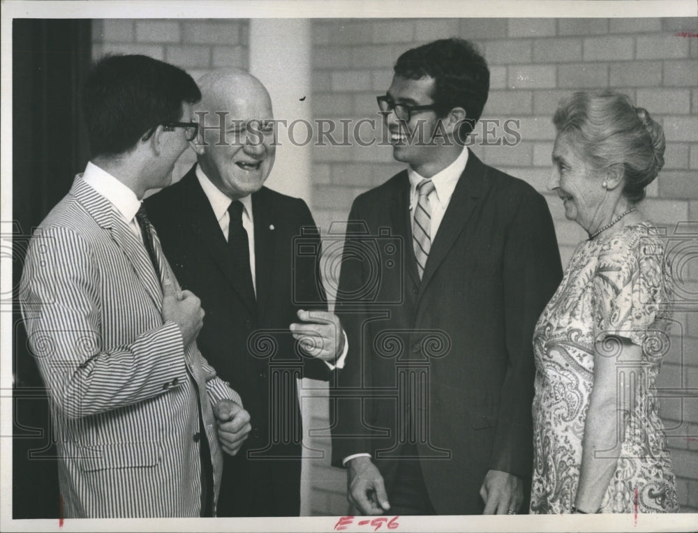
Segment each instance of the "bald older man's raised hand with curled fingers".
[{"label": "bald older man's raised hand with curled fingers", "polygon": [[298,319],[304,324],[291,324],[290,330],[304,352],[327,363],[334,363],[344,351],[344,332],[337,315],[327,311],[299,309]]}]

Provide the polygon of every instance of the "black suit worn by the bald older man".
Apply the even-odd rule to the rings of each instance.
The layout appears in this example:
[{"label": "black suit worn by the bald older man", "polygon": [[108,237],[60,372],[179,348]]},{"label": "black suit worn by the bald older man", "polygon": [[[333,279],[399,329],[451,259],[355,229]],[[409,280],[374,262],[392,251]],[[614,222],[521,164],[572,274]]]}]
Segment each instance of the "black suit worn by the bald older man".
[{"label": "black suit worn by the bald older man", "polygon": [[327,309],[313,217],[303,200],[268,188],[252,195],[253,301],[239,283],[239,267],[195,167],[145,203],[177,279],[206,312],[200,350],[252,418],[246,444],[237,456],[225,456],[218,516],[297,516],[302,428],[296,377],[329,377],[325,363],[297,351],[288,330],[299,308]]}]

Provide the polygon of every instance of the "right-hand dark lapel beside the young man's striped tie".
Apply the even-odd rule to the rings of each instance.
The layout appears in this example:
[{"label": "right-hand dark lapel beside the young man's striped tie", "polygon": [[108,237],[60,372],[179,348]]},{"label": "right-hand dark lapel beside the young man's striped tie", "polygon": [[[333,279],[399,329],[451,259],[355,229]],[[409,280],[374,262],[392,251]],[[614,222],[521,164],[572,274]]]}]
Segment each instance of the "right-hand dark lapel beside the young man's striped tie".
[{"label": "right-hand dark lapel beside the young man's striped tie", "polygon": [[473,152],[470,152],[466,168],[456,183],[451,201],[444,213],[443,220],[441,220],[438,232],[436,232],[436,238],[431,243],[429,258],[426,260],[422,284],[419,288],[420,293],[429,284],[434,272],[443,262],[463,228],[466,227],[470,215],[473,214],[477,198],[482,195],[484,171],[484,165]]}]

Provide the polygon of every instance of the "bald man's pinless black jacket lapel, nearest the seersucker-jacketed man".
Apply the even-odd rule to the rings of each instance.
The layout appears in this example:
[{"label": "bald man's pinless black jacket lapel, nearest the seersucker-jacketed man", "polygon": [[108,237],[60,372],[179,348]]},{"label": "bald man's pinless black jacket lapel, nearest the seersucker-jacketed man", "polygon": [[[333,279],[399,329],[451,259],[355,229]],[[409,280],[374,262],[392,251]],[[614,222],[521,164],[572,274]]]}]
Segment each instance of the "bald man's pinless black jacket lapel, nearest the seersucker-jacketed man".
[{"label": "bald man's pinless black jacket lapel, nearest the seersucker-jacketed man", "polygon": [[196,241],[200,242],[213,258],[223,277],[232,285],[251,313],[256,315],[257,306],[245,290],[239,267],[230,254],[228,241],[225,240],[211,203],[196,177],[195,166],[182,178],[182,182],[182,212],[185,213],[188,230],[193,232]]}]

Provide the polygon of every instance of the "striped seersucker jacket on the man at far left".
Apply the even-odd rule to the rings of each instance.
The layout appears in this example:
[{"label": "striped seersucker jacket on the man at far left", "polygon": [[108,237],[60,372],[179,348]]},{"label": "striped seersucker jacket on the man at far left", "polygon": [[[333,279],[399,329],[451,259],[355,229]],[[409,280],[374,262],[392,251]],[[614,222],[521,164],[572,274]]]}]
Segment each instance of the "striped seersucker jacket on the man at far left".
[{"label": "striped seersucker jacket on the man at far left", "polygon": [[223,458],[211,406],[240,398],[161,316],[161,280],[138,237],[78,175],[31,239],[20,299],[52,400],[66,518],[199,516],[200,426]]}]

